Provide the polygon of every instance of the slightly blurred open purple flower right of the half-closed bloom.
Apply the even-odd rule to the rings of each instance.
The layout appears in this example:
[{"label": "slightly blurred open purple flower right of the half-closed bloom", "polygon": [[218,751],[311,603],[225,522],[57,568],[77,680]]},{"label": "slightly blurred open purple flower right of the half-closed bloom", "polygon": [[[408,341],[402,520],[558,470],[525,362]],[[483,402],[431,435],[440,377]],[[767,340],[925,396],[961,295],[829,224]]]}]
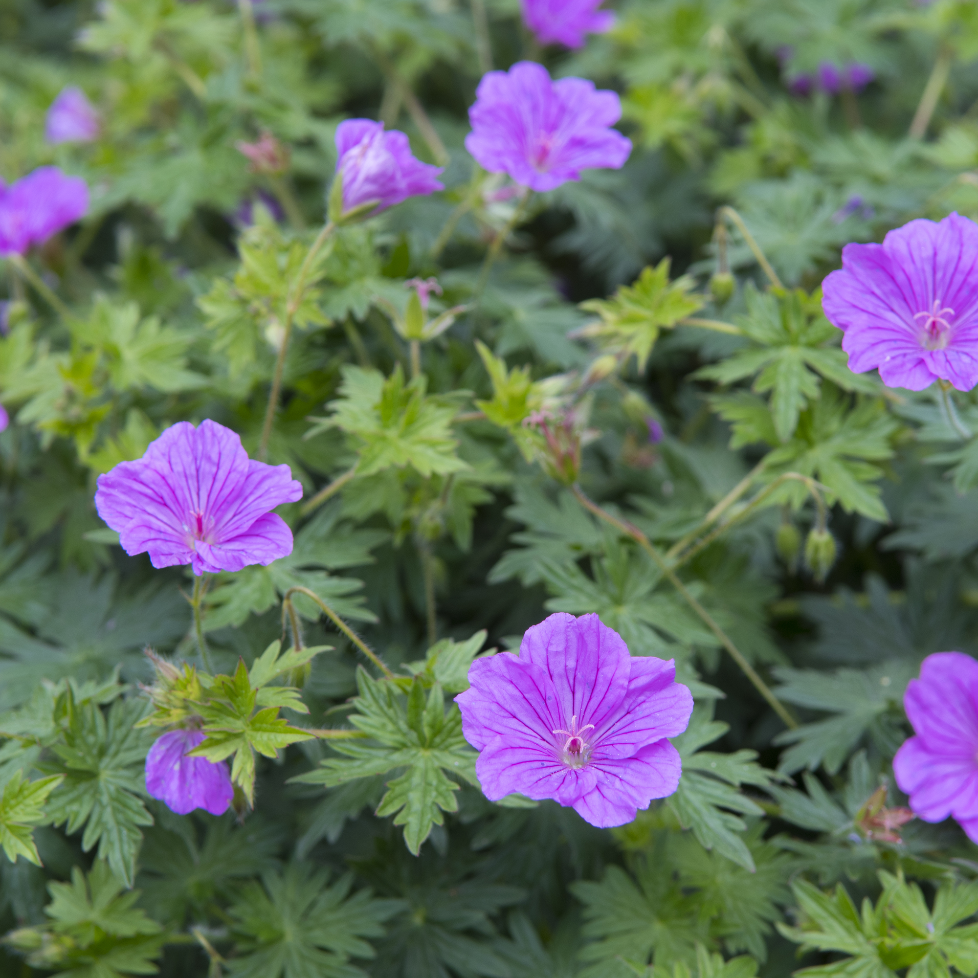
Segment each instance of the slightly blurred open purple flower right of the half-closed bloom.
[{"label": "slightly blurred open purple flower right of the half-closed bloom", "polygon": [[632,152],[611,128],[621,118],[614,92],[583,78],[553,81],[533,62],[484,75],[468,118],[466,149],[476,162],[531,190],[580,180],[581,170],[618,169]]}]

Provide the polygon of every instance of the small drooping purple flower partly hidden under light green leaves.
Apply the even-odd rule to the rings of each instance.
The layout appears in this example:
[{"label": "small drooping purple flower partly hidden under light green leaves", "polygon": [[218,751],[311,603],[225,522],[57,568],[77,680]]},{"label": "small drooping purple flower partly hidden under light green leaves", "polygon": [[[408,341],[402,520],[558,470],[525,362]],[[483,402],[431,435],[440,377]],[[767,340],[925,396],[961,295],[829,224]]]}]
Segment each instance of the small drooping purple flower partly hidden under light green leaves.
[{"label": "small drooping purple flower partly hidden under light green leaves", "polygon": [[205,757],[187,756],[203,740],[200,731],[171,731],[159,737],[147,755],[146,790],[177,815],[189,815],[196,808],[223,815],[234,798],[223,761],[215,764]]}]

